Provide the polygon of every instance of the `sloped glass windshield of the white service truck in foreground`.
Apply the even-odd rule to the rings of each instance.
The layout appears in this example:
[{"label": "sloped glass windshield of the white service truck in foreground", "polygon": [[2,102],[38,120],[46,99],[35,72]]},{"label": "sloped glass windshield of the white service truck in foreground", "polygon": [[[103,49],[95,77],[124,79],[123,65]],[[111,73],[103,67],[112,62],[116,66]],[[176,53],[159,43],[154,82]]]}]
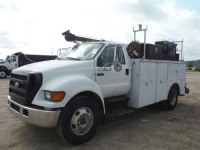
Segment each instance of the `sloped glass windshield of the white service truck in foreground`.
[{"label": "sloped glass windshield of the white service truck in foreground", "polygon": [[58,59],[90,60],[94,58],[103,46],[103,43],[77,44],[62,53]]}]

